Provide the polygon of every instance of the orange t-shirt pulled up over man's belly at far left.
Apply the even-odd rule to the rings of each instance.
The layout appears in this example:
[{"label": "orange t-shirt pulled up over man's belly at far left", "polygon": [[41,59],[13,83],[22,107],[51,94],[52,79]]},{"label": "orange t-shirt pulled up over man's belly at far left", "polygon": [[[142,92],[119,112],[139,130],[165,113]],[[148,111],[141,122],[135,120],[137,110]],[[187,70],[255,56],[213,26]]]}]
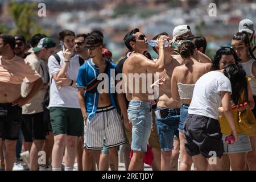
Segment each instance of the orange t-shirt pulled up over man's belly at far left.
[{"label": "orange t-shirt pulled up over man's belly at far left", "polygon": [[5,60],[0,56],[0,82],[20,85],[24,78],[34,82],[40,75],[21,57],[15,55],[13,59]]}]

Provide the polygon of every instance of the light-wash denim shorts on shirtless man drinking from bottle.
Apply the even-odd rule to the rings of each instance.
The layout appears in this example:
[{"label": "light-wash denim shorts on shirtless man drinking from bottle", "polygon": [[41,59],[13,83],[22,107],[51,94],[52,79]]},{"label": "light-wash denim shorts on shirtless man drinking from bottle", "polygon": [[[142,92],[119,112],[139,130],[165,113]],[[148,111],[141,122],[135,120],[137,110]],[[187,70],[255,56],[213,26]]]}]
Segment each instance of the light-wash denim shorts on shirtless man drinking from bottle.
[{"label": "light-wash denim shorts on shirtless man drinking from bottle", "polygon": [[131,121],[132,140],[131,149],[147,151],[148,138],[151,133],[152,113],[150,102],[130,101],[127,110],[128,119]]}]

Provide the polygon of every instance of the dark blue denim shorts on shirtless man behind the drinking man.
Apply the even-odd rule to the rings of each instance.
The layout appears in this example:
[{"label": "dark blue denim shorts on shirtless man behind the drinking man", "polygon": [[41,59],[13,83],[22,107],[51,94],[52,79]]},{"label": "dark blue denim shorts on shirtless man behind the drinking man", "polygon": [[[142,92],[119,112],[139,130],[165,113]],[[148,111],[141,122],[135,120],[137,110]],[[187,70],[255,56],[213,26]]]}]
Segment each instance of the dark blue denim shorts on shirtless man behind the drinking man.
[{"label": "dark blue denim shorts on shirtless man behind the drinking man", "polygon": [[[159,110],[159,107],[156,108]],[[155,119],[155,126],[158,130],[159,142],[162,151],[174,150],[174,135],[179,127],[180,109],[167,109],[166,118]]]}]

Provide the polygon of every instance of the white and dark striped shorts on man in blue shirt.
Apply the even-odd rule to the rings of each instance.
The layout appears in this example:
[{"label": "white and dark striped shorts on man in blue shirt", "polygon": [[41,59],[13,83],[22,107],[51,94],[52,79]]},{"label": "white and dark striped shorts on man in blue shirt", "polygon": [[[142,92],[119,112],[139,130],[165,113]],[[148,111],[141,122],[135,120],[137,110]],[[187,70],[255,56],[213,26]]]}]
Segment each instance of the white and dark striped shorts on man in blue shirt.
[{"label": "white and dark striped shorts on man in blue shirt", "polygon": [[107,148],[126,143],[122,121],[114,106],[98,107],[84,127],[84,147],[87,149],[102,150],[104,139]]}]

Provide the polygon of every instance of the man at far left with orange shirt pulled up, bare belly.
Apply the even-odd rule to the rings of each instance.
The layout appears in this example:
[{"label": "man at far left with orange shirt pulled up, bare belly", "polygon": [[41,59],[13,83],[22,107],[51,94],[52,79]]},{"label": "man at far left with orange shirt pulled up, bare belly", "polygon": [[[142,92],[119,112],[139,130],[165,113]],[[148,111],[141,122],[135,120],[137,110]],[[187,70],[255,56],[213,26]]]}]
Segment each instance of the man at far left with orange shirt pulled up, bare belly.
[{"label": "man at far left with orange shirt pulled up, bare belly", "polygon": [[[5,170],[13,169],[16,140],[24,104],[38,93],[42,86],[40,75],[14,55],[15,39],[9,34],[0,35],[0,140],[5,138]],[[20,85],[24,78],[34,82],[26,97],[20,96]],[[1,142],[0,142],[1,144]],[[1,148],[1,147],[0,147]]]}]

